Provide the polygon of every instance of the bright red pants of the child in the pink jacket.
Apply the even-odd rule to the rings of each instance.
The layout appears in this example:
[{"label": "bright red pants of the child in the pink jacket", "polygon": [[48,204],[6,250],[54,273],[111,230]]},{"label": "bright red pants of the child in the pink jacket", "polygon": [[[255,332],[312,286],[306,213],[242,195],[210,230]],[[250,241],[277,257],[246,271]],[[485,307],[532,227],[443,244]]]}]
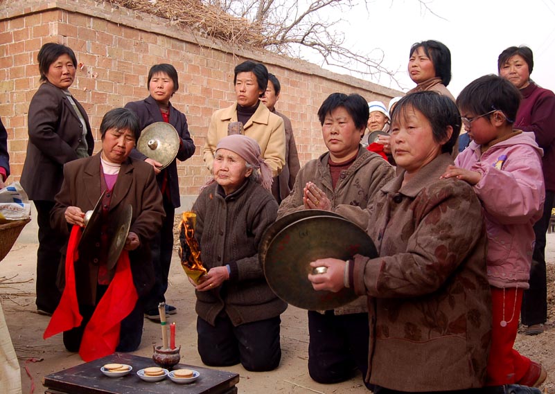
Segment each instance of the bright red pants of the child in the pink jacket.
[{"label": "bright red pants of the child in the pink jacket", "polygon": [[[486,384],[501,386],[518,383],[530,368],[530,359],[513,349],[522,304],[522,289],[491,287],[491,303],[493,328]],[[506,322],[504,327],[502,322]]]}]

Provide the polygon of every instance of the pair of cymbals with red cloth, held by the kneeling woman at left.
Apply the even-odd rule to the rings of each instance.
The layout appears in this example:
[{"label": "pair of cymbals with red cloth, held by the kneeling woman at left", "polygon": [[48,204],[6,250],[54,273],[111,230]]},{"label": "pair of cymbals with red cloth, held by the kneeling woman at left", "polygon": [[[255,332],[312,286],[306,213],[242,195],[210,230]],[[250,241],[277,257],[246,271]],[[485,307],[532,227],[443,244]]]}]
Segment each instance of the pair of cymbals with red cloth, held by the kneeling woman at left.
[{"label": "pair of cymbals with red cloth, held by the kneeling woman at left", "polygon": [[[85,213],[85,229],[83,229],[78,244],[80,256],[94,256],[98,253],[96,242],[98,242],[102,229],[102,202],[105,194],[106,190],[100,195],[94,209]],[[109,233],[111,236],[106,260],[107,269],[114,268],[118,262],[121,251],[123,251],[125,246],[125,240],[129,234],[132,217],[133,208],[131,204],[127,204],[127,206],[118,209],[110,215]]]}]

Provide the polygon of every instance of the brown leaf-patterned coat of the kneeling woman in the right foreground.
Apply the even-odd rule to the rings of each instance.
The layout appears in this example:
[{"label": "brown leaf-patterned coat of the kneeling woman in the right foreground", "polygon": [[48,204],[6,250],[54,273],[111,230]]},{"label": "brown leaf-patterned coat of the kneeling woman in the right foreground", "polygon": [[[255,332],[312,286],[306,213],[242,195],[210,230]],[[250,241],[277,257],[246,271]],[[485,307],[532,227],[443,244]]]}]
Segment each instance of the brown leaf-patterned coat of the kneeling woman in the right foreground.
[{"label": "brown leaf-patterned coat of the kneeling woman in the right foreground", "polygon": [[397,391],[482,387],[491,338],[486,231],[472,186],[439,179],[441,154],[373,201],[367,232],[379,258],[355,256],[356,294],[369,296],[367,379]]}]

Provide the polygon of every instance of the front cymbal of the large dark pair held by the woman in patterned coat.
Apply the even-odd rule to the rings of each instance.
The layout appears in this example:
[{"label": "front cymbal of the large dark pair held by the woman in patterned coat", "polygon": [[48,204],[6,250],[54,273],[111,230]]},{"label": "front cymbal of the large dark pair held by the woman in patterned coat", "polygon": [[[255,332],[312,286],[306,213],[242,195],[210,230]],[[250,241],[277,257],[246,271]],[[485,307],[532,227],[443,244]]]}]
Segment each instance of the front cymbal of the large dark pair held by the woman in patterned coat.
[{"label": "front cymbal of the large dark pair held by the woman in patterned coat", "polygon": [[306,310],[332,310],[358,296],[353,289],[315,291],[307,276],[319,258],[348,260],[360,253],[378,256],[366,231],[342,217],[312,216],[297,220],[274,236],[264,261],[268,285],[283,301]]}]

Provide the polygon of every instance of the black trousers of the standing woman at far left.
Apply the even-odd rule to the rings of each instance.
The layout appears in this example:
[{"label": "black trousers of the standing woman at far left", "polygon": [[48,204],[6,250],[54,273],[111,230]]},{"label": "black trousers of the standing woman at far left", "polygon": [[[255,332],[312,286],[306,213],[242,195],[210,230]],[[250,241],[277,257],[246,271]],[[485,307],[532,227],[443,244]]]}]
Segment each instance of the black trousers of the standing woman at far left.
[{"label": "black trousers of the standing woman at far left", "polygon": [[52,229],[50,211],[51,201],[35,201],[37,223],[39,225],[39,248],[37,249],[37,308],[53,313],[58,307],[62,294],[56,285],[62,247],[66,242],[64,235]]}]

